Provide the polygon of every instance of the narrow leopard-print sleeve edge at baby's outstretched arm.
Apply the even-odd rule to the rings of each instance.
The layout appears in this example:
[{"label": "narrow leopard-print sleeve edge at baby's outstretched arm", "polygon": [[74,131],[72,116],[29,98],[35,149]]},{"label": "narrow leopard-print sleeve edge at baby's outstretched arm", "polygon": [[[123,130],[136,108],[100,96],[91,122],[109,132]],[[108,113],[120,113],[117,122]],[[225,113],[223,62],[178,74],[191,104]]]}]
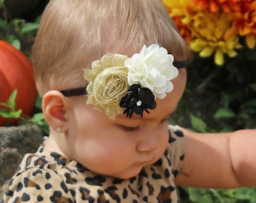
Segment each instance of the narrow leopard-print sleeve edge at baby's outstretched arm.
[{"label": "narrow leopard-print sleeve edge at baby's outstretched arm", "polygon": [[179,126],[169,125],[169,159],[176,176],[184,159],[184,134]]}]

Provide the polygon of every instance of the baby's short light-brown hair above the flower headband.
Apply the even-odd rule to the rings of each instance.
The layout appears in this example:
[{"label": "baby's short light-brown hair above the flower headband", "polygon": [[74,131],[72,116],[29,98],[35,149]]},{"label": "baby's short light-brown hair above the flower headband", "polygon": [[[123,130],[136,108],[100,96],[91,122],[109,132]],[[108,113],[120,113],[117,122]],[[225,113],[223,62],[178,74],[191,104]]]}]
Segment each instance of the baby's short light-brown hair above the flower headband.
[{"label": "baby's short light-brown hair above the flower headband", "polygon": [[160,0],[52,0],[32,52],[38,92],[86,86],[84,69],[96,59],[132,56],[154,43],[175,61],[187,59],[187,44]]}]

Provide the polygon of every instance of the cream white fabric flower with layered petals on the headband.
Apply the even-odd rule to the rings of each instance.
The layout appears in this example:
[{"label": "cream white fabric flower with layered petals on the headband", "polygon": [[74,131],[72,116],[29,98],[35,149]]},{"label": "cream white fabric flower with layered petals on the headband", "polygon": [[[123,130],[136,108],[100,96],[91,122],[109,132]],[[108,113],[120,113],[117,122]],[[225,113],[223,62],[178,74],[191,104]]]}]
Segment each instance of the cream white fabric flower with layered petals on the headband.
[{"label": "cream white fabric flower with layered petals on the headband", "polygon": [[151,44],[149,47],[144,45],[140,53],[135,53],[124,62],[129,69],[128,83],[140,84],[150,89],[157,98],[164,98],[166,92],[173,89],[170,80],[178,76],[178,69],[172,65],[173,61],[174,57],[164,47],[158,44]]}]

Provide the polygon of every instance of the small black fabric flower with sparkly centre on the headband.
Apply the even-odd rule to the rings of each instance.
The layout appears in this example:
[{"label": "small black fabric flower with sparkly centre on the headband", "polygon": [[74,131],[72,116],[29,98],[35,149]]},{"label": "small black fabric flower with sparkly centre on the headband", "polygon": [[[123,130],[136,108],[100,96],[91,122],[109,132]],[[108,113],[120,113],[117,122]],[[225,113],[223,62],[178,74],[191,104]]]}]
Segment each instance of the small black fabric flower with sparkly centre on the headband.
[{"label": "small black fabric flower with sparkly centre on the headband", "polygon": [[133,113],[141,115],[143,117],[143,112],[149,113],[149,109],[154,109],[157,107],[157,103],[154,101],[154,95],[150,89],[140,86],[139,84],[133,84],[128,89],[123,98],[120,101],[120,107],[126,108],[123,114],[126,117],[132,117]]}]

